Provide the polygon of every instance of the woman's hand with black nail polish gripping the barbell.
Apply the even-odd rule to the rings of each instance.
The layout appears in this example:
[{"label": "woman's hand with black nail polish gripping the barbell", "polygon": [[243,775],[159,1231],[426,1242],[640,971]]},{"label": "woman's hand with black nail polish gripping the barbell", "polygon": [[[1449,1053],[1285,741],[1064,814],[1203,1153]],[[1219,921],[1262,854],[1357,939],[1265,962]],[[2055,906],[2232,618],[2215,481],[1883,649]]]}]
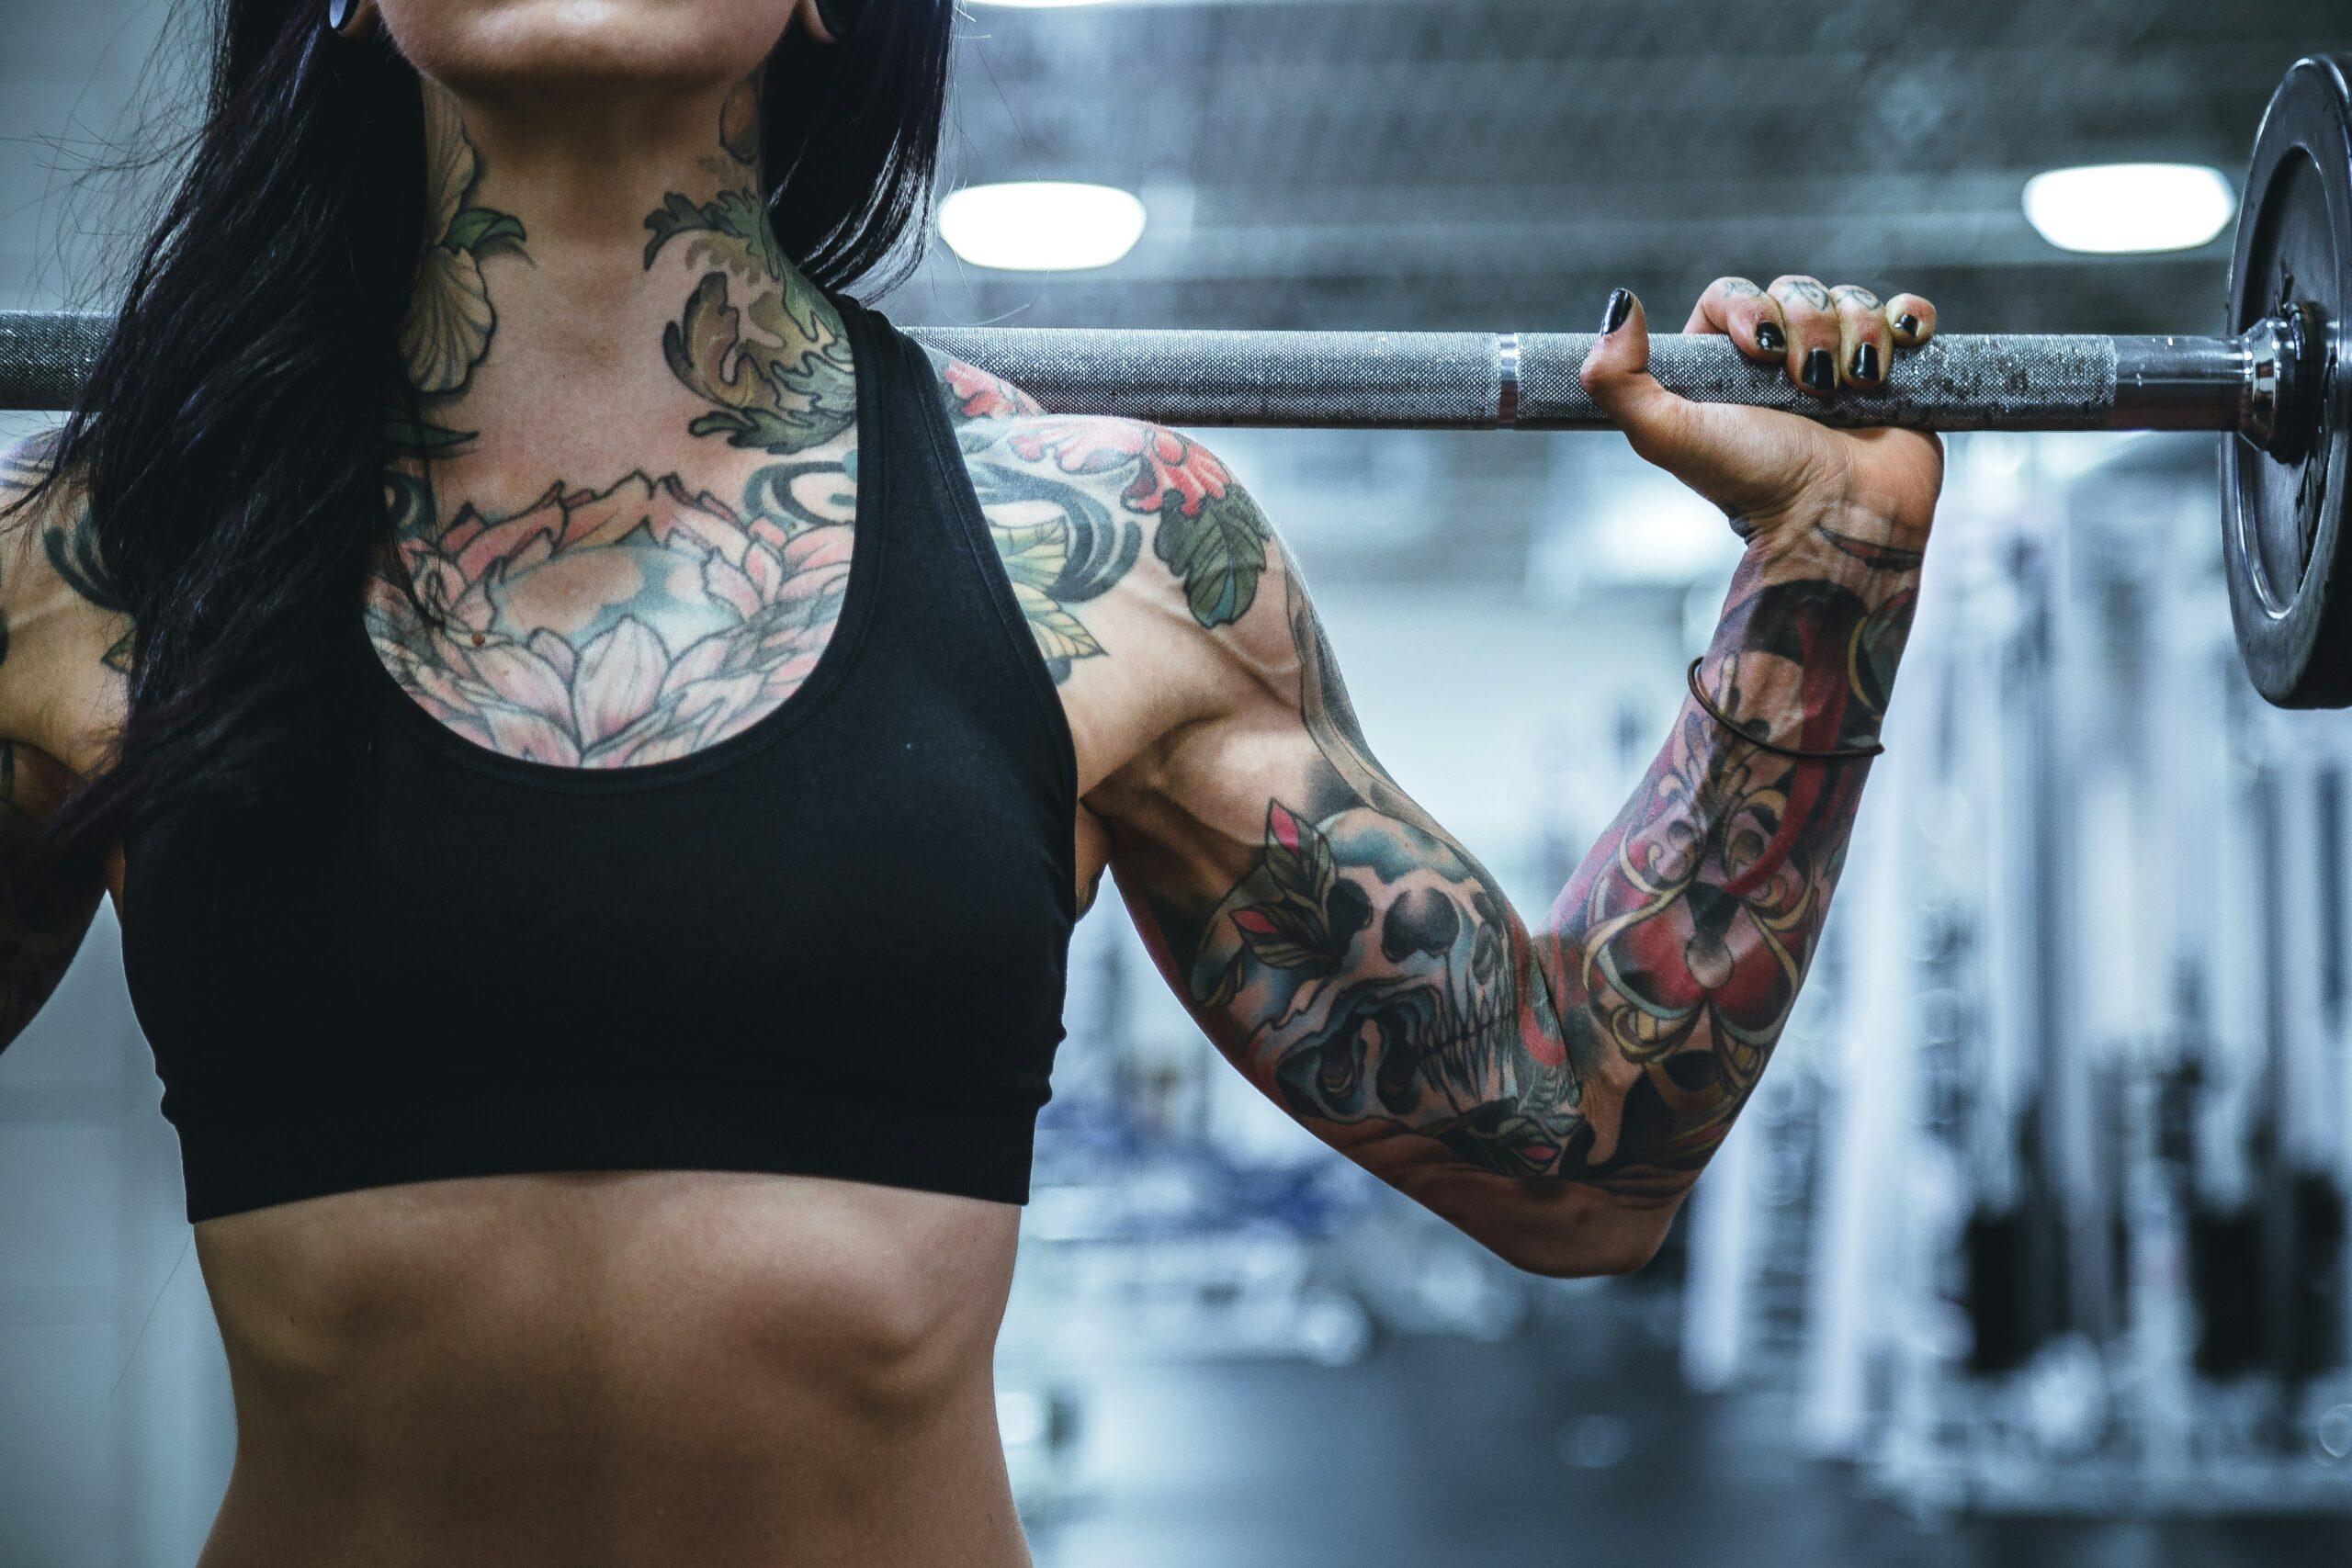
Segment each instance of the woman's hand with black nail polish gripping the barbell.
[{"label": "woman's hand with black nail polish gripping the barbell", "polygon": [[[1592,402],[1632,449],[1731,515],[1750,545],[1809,536],[1820,517],[1867,520],[1879,543],[1919,548],[1943,489],[1943,442],[1919,430],[1832,430],[1736,404],[1691,402],[1649,374],[1642,301],[1611,296],[1604,336],[1583,364]],[[1613,327],[1613,329],[1611,329]],[[1780,277],[1757,289],[1719,277],[1684,331],[1729,336],[1757,364],[1778,364],[1816,397],[1867,397],[1886,381],[1898,348],[1936,334],[1936,306],[1896,294],[1884,306],[1867,289],[1825,289]]]}]

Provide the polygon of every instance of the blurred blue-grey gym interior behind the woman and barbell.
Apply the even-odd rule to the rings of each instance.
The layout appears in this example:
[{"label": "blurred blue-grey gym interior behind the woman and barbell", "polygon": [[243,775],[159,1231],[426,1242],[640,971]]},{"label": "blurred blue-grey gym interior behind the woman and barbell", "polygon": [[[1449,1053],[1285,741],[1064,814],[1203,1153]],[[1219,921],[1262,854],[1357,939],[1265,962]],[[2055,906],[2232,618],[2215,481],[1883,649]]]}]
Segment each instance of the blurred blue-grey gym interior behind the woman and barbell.
[{"label": "blurred blue-grey gym interior behind the woman and barbell", "polygon": [[[0,0],[0,308],[103,303],[71,181],[183,80],[165,12]],[[967,0],[971,193],[889,310],[1675,327],[1811,270],[2216,331],[2263,101],[2345,47],[2340,0]],[[1548,907],[1719,517],[1604,435],[1211,442],[1390,769]],[[1816,980],[1644,1274],[1512,1274],[1263,1105],[1117,900],[1080,926],[1000,1356],[1040,1563],[2352,1561],[2352,717],[2239,672],[2213,437],[1950,447]],[[186,1563],[230,1460],[99,922],[0,1060],[0,1568]]]}]

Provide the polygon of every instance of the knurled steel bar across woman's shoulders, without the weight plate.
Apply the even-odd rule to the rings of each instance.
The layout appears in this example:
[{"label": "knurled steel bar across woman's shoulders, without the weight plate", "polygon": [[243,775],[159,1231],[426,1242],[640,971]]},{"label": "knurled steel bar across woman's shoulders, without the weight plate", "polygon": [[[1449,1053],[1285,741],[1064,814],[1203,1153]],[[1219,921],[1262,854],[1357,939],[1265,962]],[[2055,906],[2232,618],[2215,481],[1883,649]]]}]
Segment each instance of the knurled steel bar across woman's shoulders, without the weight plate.
[{"label": "knurled steel bar across woman's shoulders, without the weight plate", "polygon": [[[0,409],[61,409],[108,320],[0,313]],[[1129,331],[913,327],[927,348],[1025,388],[1058,414],[1162,425],[1604,430],[1576,369],[1583,331]],[[2253,430],[2267,416],[2263,327],[2244,339],[1943,336],[1898,353],[1882,390],[1813,397],[1729,339],[1658,334],[1649,369],[1703,402],[1830,425],[1922,430]]]}]

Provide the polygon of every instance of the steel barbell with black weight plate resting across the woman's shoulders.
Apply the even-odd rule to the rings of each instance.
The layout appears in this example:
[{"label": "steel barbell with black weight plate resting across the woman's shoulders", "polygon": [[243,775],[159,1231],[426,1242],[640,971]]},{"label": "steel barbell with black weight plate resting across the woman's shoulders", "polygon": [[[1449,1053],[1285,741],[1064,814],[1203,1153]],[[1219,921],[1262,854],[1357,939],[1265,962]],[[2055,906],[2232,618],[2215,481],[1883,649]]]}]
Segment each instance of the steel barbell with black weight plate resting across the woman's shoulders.
[{"label": "steel barbell with black weight plate resting across the woman's shoulders", "polygon": [[[2218,336],[1938,336],[1875,390],[1820,400],[1729,339],[1661,334],[1651,371],[1705,402],[1830,425],[2220,430],[2237,642],[2281,708],[2352,705],[2338,559],[2352,386],[2352,54],[2298,61],[2256,132]],[[0,409],[68,407],[111,322],[0,313]],[[1602,430],[1576,369],[1590,334],[913,329],[1063,414],[1164,425]]]}]

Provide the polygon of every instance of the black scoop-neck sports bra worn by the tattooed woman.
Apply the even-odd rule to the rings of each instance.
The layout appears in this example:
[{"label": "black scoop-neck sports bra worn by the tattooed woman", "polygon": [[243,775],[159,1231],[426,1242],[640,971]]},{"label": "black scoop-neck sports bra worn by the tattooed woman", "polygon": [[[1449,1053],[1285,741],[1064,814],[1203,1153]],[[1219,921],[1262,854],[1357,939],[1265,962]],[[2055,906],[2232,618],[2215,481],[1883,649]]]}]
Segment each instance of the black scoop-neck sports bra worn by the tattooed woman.
[{"label": "black scoop-neck sports bra worn by the tattooed woman", "polygon": [[348,654],[365,745],[125,842],[188,1218],[522,1171],[837,1175],[1021,1204],[1075,922],[1061,698],[922,350],[858,364],[840,621],[781,708],[569,769]]}]

